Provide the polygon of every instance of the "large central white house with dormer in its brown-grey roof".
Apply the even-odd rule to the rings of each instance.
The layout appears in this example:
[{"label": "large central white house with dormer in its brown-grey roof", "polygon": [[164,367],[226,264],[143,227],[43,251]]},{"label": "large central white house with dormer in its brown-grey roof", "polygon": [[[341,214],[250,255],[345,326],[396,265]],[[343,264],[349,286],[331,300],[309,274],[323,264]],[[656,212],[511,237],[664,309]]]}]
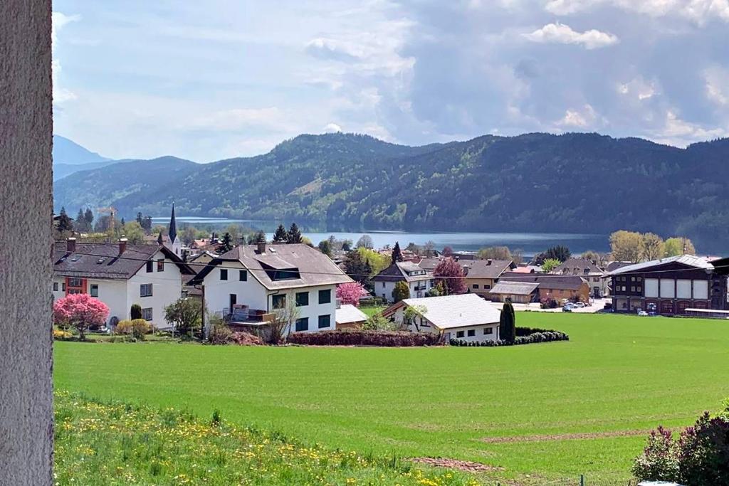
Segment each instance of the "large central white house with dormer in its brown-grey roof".
[{"label": "large central white house with dormer in its brown-grey roof", "polygon": [[274,310],[293,303],[289,332],[335,329],[337,286],[351,282],[332,260],[303,244],[236,246],[190,281],[203,289],[208,312],[234,324],[263,327]]}]

